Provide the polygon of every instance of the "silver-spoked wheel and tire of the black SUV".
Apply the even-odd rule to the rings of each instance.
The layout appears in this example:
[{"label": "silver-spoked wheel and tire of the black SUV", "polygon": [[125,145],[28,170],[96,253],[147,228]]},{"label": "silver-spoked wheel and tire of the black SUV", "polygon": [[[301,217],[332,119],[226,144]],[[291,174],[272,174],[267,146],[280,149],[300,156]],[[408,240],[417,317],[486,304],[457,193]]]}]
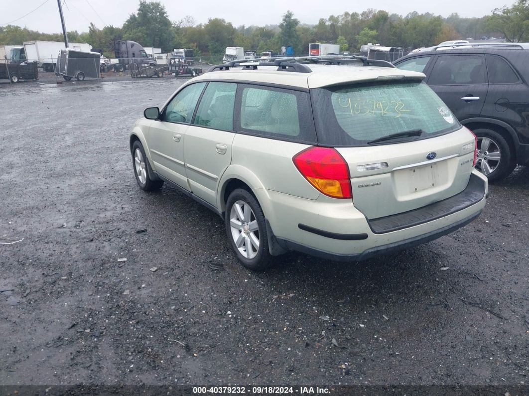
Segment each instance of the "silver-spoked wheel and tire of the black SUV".
[{"label": "silver-spoked wheel and tire of the black SUV", "polygon": [[505,138],[487,128],[478,128],[472,132],[478,137],[476,169],[490,182],[509,176],[516,167],[516,158]]}]

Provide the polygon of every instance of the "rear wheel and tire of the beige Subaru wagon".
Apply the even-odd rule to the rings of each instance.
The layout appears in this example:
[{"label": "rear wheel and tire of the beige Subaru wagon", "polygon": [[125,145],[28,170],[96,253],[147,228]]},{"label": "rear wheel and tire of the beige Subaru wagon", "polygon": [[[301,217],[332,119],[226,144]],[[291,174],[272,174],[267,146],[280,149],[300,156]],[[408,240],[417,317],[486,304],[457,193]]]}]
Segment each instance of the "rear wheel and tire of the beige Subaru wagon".
[{"label": "rear wheel and tire of the beige Subaru wagon", "polygon": [[226,202],[225,224],[229,243],[242,265],[252,271],[269,268],[272,256],[265,215],[250,192],[241,188],[232,191]]}]

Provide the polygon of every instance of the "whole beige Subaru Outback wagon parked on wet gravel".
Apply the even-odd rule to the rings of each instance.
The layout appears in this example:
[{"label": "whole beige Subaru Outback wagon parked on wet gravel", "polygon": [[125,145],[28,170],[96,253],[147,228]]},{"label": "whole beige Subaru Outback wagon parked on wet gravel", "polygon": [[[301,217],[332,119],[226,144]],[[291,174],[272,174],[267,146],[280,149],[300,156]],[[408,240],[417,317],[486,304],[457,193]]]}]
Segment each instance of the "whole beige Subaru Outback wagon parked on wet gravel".
[{"label": "whole beige Subaru Outback wagon parked on wet gravel", "polygon": [[218,213],[244,266],[299,251],[358,261],[470,223],[487,179],[476,136],[422,73],[355,57],[232,62],[145,109],[136,181]]}]

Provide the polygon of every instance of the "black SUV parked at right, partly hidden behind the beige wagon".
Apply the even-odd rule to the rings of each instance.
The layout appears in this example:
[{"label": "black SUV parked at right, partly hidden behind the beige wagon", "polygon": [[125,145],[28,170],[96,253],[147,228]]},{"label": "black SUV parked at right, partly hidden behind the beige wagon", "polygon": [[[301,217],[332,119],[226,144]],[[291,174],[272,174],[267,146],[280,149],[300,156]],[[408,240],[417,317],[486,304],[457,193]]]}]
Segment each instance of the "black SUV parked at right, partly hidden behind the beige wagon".
[{"label": "black SUV parked at right, partly hidden behind the beige wagon", "polygon": [[490,181],[529,165],[529,44],[422,51],[396,60],[421,71],[478,137],[476,168]]}]

